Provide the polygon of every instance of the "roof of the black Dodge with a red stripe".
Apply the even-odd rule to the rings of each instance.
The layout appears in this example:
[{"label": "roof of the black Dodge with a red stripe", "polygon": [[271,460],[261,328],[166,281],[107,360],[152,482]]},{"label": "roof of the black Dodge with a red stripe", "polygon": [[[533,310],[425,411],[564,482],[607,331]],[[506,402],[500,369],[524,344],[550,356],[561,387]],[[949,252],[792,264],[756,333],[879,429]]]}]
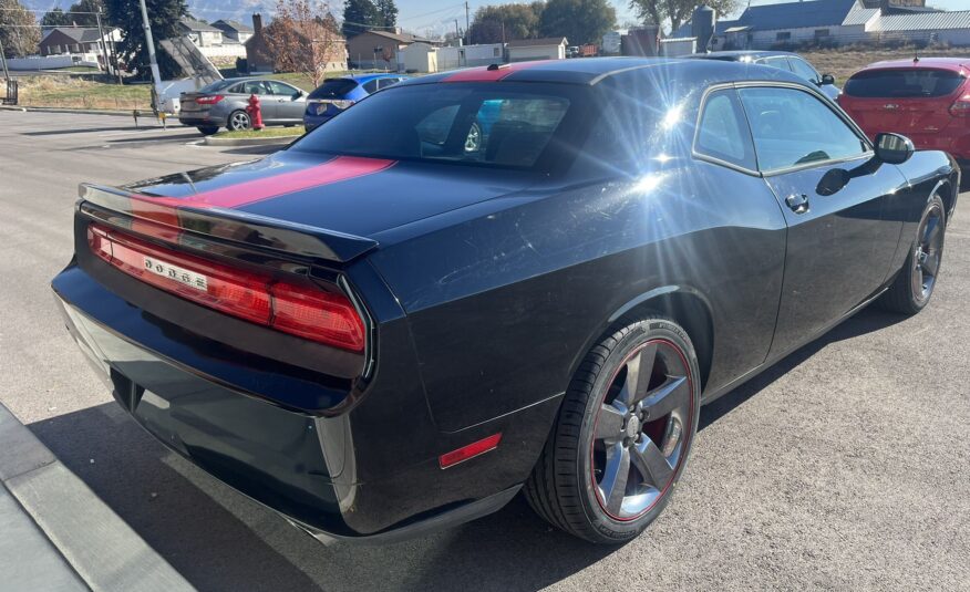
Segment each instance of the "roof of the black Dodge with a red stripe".
[{"label": "roof of the black Dodge with a red stripe", "polygon": [[650,70],[651,75],[703,82],[746,80],[784,81],[804,84],[804,80],[777,67],[722,60],[670,58],[585,58],[582,60],[545,60],[515,62],[504,66],[468,67],[405,80],[395,86],[436,82],[555,82],[594,85],[613,75],[634,70]]}]

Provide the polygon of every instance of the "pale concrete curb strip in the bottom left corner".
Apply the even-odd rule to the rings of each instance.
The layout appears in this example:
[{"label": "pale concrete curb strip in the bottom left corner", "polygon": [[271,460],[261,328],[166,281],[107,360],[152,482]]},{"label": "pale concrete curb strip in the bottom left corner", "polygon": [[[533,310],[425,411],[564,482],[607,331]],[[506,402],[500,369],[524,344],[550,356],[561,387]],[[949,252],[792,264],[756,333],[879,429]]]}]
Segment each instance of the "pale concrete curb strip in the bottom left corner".
[{"label": "pale concrete curb strip in the bottom left corner", "polygon": [[95,592],[195,590],[2,404],[0,480]]}]

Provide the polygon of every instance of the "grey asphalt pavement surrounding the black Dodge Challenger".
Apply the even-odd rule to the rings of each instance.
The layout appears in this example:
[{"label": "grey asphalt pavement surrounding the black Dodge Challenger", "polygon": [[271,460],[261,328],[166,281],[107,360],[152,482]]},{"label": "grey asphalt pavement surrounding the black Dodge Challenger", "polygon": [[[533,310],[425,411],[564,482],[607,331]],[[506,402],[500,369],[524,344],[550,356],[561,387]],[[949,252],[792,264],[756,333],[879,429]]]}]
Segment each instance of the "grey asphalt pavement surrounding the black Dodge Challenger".
[{"label": "grey asphalt pavement surrounding the black Dodge Challenger", "polygon": [[675,498],[633,542],[590,547],[516,499],[424,539],[326,548],[128,419],[49,293],[78,183],[254,157],[197,137],[0,111],[0,401],[199,589],[970,590],[967,211],[920,315],[863,311],[705,408]]}]

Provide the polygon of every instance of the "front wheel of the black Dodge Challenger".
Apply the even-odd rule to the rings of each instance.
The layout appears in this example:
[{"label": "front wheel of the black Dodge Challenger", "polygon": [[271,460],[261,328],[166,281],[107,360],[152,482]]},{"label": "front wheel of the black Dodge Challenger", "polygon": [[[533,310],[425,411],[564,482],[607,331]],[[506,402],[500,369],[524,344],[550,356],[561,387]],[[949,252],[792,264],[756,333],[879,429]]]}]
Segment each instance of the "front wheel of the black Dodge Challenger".
[{"label": "front wheel of the black Dodge Challenger", "polygon": [[929,304],[942,262],[946,231],[943,200],[933,195],[919,218],[902,269],[877,301],[879,308],[912,315]]}]

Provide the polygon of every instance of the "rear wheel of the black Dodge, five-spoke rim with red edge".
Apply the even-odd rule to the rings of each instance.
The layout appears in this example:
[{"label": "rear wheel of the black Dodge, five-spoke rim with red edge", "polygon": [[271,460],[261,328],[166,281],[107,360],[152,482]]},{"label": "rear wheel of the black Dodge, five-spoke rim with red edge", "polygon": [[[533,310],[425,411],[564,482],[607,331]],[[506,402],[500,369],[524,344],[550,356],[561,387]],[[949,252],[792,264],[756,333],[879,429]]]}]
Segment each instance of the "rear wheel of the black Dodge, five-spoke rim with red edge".
[{"label": "rear wheel of the black Dodge, five-spoke rim with red edge", "polygon": [[667,506],[700,416],[700,372],[670,319],[626,319],[587,354],[525,486],[535,511],[596,543],[637,537]]}]

